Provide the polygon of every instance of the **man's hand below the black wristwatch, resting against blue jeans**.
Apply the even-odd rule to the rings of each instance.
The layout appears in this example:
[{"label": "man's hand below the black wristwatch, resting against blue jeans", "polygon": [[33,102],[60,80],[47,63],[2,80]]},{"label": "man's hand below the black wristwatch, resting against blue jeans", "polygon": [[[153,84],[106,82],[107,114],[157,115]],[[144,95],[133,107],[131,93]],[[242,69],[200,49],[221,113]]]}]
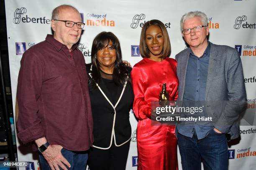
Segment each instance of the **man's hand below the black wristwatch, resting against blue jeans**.
[{"label": "man's hand below the black wristwatch, resting against blue jeans", "polygon": [[61,145],[49,145],[49,147],[47,147],[47,149],[42,153],[51,170],[59,170],[59,166],[63,170],[67,170],[65,165],[71,167],[66,158],[61,154],[62,148],[63,147]]}]

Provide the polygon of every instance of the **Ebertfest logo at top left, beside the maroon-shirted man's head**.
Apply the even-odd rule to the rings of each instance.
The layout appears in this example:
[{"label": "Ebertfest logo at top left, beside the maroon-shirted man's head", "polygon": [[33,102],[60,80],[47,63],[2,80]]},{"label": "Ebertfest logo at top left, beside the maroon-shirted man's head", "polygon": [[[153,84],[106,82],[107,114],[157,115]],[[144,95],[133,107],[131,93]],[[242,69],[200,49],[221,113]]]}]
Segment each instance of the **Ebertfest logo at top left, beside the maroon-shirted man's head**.
[{"label": "Ebertfest logo at top left, beside the maroon-shirted man's head", "polygon": [[40,17],[40,18],[31,18],[26,15],[26,17],[21,17],[21,15],[26,14],[27,9],[22,7],[22,8],[17,8],[14,12],[14,18],[13,18],[13,23],[19,24],[20,20],[23,23],[41,23],[41,24],[50,24],[51,20],[46,19],[46,17]]}]

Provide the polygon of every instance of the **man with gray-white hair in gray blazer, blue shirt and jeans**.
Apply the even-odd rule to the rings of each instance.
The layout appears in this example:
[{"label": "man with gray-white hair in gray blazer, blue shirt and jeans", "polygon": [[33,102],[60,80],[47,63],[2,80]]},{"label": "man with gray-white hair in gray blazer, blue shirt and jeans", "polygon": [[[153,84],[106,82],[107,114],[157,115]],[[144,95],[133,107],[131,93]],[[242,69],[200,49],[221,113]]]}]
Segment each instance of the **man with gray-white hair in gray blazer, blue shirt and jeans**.
[{"label": "man with gray-white hair in gray blazer, blue shirt and jeans", "polygon": [[236,49],[207,41],[205,13],[186,13],[180,25],[189,48],[176,55],[178,101],[204,101],[204,114],[212,117],[177,124],[182,169],[200,170],[202,160],[204,170],[227,170],[227,137],[239,136],[241,101],[246,101],[241,59]]}]

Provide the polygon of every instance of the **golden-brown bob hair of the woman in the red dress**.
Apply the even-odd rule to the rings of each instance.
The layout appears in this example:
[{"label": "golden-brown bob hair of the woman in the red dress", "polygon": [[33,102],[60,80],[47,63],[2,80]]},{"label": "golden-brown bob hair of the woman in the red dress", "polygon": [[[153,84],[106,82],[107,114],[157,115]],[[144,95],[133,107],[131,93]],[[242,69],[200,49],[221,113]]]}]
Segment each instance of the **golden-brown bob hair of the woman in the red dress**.
[{"label": "golden-brown bob hair of the woman in the red dress", "polygon": [[150,51],[148,50],[148,48],[146,46],[146,30],[151,25],[158,26],[161,29],[163,36],[164,36],[164,47],[163,47],[163,51],[161,52],[161,58],[169,57],[171,54],[171,43],[170,43],[168,32],[164,26],[164,23],[162,23],[160,20],[149,20],[143,25],[143,27],[141,29],[141,40],[140,40],[141,56],[143,58],[149,57]]}]

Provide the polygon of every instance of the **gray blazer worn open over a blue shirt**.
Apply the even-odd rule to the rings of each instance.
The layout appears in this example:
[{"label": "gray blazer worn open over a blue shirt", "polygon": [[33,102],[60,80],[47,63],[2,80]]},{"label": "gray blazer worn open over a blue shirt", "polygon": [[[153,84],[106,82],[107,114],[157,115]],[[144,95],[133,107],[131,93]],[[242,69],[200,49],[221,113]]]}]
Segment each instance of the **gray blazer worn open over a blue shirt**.
[{"label": "gray blazer worn open over a blue shirt", "polygon": [[[208,116],[217,118],[212,122],[215,128],[235,139],[239,136],[238,119],[246,101],[241,58],[235,48],[213,43],[210,46],[205,110]],[[183,100],[190,51],[187,48],[175,56],[179,78],[178,101]]]}]

